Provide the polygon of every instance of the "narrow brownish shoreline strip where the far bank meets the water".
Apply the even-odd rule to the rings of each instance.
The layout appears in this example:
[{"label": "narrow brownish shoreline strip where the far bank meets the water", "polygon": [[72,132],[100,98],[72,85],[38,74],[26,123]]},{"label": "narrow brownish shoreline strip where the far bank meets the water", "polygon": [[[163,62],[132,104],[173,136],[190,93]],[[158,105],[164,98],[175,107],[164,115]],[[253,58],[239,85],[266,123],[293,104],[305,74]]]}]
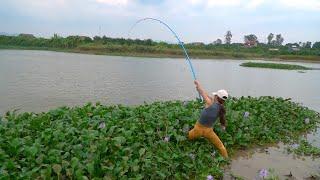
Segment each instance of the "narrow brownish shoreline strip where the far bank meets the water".
[{"label": "narrow brownish shoreline strip where the far bank meets the water", "polygon": [[[181,55],[165,54],[165,53],[121,53],[121,52],[102,52],[102,51],[86,51],[81,49],[61,49],[61,48],[39,48],[39,47],[21,47],[21,46],[1,46],[0,50],[38,50],[38,51],[52,51],[52,52],[64,52],[64,53],[76,53],[76,54],[91,54],[91,55],[104,55],[104,56],[124,56],[124,57],[146,57],[146,58],[184,58],[185,56],[181,52]],[[272,62],[302,62],[302,63],[320,63],[320,56],[293,56],[290,58],[279,58],[279,57],[259,57],[259,56],[248,56],[248,57],[234,57],[234,56],[214,56],[214,55],[189,55],[191,59],[196,60],[258,60],[258,61],[272,61]],[[311,59],[310,59],[311,58]],[[313,59],[313,58],[319,58]]]}]

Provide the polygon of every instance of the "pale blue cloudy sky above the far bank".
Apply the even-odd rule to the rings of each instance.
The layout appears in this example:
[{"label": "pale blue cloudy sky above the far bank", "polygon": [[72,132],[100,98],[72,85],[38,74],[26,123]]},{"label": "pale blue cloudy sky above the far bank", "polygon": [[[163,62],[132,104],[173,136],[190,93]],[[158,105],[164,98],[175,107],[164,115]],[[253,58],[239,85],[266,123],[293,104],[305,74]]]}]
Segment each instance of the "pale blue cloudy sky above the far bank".
[{"label": "pale blue cloudy sky above the far bank", "polygon": [[158,18],[184,42],[211,43],[232,32],[232,42],[269,33],[284,43],[320,41],[320,0],[1,0],[0,32],[35,36],[106,35],[174,42]]}]

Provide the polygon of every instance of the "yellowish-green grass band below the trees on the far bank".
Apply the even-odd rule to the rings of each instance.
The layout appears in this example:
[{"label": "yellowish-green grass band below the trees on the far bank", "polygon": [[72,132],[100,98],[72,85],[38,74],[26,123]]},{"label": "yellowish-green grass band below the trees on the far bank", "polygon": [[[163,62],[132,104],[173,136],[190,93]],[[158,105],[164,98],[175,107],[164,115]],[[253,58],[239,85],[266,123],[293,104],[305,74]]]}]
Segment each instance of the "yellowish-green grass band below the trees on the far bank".
[{"label": "yellowish-green grass band below the trees on the far bank", "polygon": [[[146,47],[149,49],[150,47]],[[157,50],[150,48],[143,51],[141,48],[123,47],[123,46],[79,46],[77,48],[52,48],[52,47],[24,47],[24,46],[6,46],[0,45],[0,49],[21,49],[21,50],[48,50],[57,52],[72,52],[95,55],[112,55],[112,56],[131,56],[131,57],[154,57],[154,58],[184,58],[181,49],[164,49]],[[296,55],[268,55],[257,53],[241,53],[233,51],[208,51],[208,50],[188,50],[192,59],[261,59],[261,60],[289,60],[289,61],[308,61],[320,62],[320,56],[296,56]]]}]

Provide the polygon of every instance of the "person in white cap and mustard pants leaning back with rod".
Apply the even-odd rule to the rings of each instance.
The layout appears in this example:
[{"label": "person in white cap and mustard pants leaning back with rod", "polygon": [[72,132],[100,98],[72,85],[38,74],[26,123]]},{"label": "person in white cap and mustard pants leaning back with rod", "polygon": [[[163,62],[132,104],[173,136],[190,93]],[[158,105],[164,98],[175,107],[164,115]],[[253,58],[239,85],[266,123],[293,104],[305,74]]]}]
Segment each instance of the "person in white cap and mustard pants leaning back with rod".
[{"label": "person in white cap and mustard pants leaning back with rod", "polygon": [[189,140],[194,140],[199,137],[207,138],[218,148],[220,154],[227,158],[228,152],[219,137],[213,131],[212,126],[219,117],[222,129],[226,129],[226,110],[224,102],[228,99],[228,92],[221,89],[217,92],[213,92],[212,96],[209,96],[202,88],[199,81],[195,80],[194,84],[196,85],[197,91],[205,101],[205,108],[202,110],[200,119],[196,122],[194,128],[189,131],[188,138]]}]

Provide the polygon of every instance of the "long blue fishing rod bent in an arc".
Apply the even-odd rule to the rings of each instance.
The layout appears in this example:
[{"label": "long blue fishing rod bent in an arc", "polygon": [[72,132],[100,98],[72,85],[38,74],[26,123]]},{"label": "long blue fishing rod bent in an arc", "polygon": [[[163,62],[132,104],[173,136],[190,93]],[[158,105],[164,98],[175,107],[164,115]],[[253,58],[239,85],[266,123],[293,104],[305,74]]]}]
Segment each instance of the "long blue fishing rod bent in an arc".
[{"label": "long blue fishing rod bent in an arc", "polygon": [[[165,22],[163,22],[163,21],[161,21],[161,20],[159,20],[159,19],[150,18],[150,17],[140,19],[140,20],[138,20],[136,23],[134,23],[134,24],[132,25],[132,27],[130,28],[130,31],[129,31],[129,35],[130,35],[131,31],[133,30],[133,28],[136,27],[137,24],[139,24],[139,23],[142,22],[142,21],[146,21],[146,20],[151,20],[151,21],[159,22],[159,23],[161,23],[162,25],[164,25],[165,27],[167,27],[167,29],[169,29],[169,30],[171,31],[171,33],[174,35],[174,37],[178,40],[178,43],[179,43],[180,47],[182,48],[182,50],[183,50],[183,52],[184,52],[185,58],[186,58],[186,60],[187,60],[187,62],[188,62],[188,64],[189,64],[189,67],[190,67],[190,71],[191,71],[193,80],[197,80],[195,70],[194,70],[193,65],[192,65],[192,63],[191,63],[190,57],[189,57],[189,55],[188,55],[188,53],[187,53],[187,50],[186,50],[186,48],[185,48],[184,45],[183,45],[183,42],[182,42],[182,41],[180,40],[180,38],[178,37],[177,33],[174,32],[173,29],[172,29],[168,24],[166,24]],[[128,35],[128,37],[129,37],[129,35]],[[199,92],[198,92],[198,94],[199,94],[199,99],[202,100]]]}]

